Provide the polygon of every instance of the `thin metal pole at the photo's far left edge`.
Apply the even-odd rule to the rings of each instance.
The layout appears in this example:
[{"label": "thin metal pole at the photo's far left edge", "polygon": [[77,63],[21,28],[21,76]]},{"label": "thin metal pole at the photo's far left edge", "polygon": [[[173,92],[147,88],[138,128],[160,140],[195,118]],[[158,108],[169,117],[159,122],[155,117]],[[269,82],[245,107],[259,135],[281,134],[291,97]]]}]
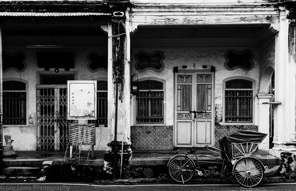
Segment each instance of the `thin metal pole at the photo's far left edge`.
[{"label": "thin metal pole at the photo's far left edge", "polygon": [[[1,20],[2,21],[2,20]],[[2,22],[0,23],[0,174],[3,168],[3,72],[2,72]]]}]

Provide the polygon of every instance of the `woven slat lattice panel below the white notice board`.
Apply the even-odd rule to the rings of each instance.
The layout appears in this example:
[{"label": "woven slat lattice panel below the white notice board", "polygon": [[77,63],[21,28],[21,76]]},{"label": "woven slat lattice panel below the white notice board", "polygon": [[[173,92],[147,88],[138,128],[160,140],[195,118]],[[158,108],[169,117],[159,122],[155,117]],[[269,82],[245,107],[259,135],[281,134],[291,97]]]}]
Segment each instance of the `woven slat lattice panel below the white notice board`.
[{"label": "woven slat lattice panel below the white notice board", "polygon": [[70,145],[95,145],[95,125],[70,123]]}]

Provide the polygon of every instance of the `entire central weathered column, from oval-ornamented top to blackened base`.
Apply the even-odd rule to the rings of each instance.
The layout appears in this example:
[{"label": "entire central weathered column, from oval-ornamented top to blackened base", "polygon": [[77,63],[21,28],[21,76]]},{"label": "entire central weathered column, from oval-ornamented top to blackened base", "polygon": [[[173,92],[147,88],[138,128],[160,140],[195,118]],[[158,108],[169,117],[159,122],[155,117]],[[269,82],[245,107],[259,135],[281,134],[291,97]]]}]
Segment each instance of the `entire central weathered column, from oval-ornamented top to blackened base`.
[{"label": "entire central weathered column, from oval-ornamented top to blackened base", "polygon": [[[126,7],[120,4],[111,7],[112,17],[108,21],[108,149],[104,154],[104,171],[107,173],[106,176],[113,174],[113,178],[121,178],[128,173],[131,158],[130,30],[129,20],[126,23]],[[116,79],[118,79],[118,96],[116,96]],[[115,118],[117,118],[117,133],[115,133]]]}]

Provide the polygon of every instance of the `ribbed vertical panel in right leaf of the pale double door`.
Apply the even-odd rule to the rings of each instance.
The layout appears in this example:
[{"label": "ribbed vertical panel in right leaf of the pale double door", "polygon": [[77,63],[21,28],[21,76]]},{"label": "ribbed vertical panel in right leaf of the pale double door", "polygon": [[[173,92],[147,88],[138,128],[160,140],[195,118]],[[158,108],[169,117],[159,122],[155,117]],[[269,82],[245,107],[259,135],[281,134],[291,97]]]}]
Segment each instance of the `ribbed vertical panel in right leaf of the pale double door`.
[{"label": "ribbed vertical panel in right leaf of the pale double door", "polygon": [[197,84],[196,110],[207,110],[208,106],[208,85]]}]

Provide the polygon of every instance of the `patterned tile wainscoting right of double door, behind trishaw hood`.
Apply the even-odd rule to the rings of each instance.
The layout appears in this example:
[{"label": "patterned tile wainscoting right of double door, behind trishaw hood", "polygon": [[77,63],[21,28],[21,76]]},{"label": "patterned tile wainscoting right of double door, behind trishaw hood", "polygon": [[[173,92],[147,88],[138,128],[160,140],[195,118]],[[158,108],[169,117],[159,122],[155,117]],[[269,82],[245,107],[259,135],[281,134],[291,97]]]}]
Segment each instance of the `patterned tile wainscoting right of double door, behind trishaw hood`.
[{"label": "patterned tile wainscoting right of double door, behind trishaw hood", "polygon": [[215,147],[219,148],[219,139],[235,131],[258,131],[257,125],[215,125]]}]

